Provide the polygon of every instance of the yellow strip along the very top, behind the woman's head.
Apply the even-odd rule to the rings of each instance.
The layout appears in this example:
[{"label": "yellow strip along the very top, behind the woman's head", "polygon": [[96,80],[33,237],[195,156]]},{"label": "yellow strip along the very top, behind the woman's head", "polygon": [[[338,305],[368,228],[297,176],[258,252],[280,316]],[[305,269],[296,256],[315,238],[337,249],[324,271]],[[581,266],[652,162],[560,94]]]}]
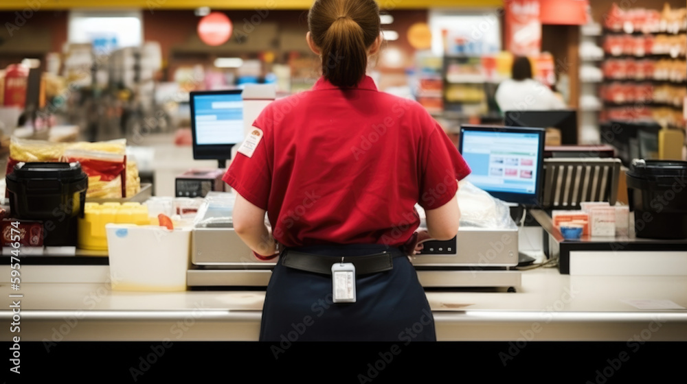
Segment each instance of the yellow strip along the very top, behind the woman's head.
[{"label": "yellow strip along the very top, behind the woman's head", "polygon": [[[382,8],[493,8],[503,0],[378,0]],[[72,8],[173,10],[207,6],[218,10],[304,10],[313,0],[1,0],[0,10],[69,10]],[[27,11],[28,12],[28,11]]]}]

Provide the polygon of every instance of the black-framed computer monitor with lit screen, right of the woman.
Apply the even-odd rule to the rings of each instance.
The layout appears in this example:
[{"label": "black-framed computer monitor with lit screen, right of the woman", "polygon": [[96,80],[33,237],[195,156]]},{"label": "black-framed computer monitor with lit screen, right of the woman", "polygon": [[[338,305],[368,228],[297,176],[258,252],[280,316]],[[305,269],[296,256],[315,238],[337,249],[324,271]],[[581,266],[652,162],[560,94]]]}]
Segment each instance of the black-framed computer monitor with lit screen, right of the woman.
[{"label": "black-framed computer monitor with lit screen, right of the woman", "polygon": [[459,151],[472,170],[468,181],[504,202],[541,201],[543,128],[462,125]]}]

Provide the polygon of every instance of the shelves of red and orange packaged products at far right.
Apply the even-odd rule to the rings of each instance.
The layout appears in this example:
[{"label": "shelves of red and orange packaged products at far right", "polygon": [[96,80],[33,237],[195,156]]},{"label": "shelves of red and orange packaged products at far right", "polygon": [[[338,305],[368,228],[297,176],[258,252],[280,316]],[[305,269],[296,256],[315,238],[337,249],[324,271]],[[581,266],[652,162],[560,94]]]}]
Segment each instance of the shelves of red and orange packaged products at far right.
[{"label": "shelves of red and orange packaged products at far right", "polygon": [[605,18],[601,121],[647,121],[686,128],[687,8],[613,4]]}]

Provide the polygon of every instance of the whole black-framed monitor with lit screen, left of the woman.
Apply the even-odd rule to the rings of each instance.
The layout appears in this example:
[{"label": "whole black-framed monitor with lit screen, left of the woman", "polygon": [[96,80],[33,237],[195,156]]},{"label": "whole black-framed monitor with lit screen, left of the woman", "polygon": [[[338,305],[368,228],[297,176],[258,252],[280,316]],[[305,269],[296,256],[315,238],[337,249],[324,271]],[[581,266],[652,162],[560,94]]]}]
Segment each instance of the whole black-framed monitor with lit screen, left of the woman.
[{"label": "whole black-framed monitor with lit screen, left of the woman", "polygon": [[240,89],[190,93],[193,158],[218,160],[220,168],[243,142],[243,99]]}]

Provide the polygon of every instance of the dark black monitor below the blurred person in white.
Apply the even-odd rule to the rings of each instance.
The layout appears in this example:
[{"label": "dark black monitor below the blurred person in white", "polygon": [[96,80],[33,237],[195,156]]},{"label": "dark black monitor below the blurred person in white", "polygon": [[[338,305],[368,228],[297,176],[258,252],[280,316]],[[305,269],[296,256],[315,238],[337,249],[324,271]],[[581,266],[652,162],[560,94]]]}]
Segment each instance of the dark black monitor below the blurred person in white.
[{"label": "dark black monitor below the blurred person in white", "polygon": [[507,110],[504,125],[558,128],[561,130],[561,145],[577,144],[576,110]]}]

